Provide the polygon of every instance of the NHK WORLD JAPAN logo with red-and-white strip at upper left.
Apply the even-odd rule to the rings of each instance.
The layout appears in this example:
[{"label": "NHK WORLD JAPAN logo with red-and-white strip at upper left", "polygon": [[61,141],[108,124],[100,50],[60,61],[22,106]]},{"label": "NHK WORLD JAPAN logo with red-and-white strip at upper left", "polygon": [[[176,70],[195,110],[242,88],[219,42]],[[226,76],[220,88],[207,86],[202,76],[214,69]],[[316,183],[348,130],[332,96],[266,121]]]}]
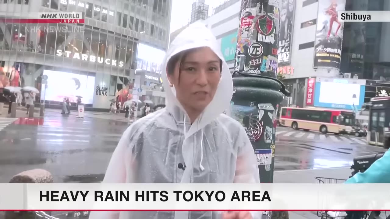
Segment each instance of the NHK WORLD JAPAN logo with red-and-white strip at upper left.
[{"label": "NHK WORLD JAPAN logo with red-and-white strip at upper left", "polygon": [[0,18],[0,21],[5,21],[7,23],[84,23],[84,13],[81,12],[27,13],[26,17]]}]

